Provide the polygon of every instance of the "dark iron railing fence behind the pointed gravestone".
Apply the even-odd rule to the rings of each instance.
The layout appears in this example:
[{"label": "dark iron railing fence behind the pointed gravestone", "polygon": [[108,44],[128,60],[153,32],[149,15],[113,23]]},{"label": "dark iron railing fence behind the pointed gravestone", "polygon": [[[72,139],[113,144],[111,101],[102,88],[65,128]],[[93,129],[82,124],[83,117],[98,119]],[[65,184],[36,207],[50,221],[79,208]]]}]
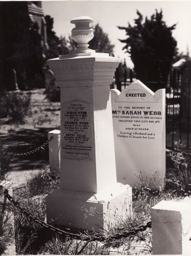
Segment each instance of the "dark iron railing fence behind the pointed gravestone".
[{"label": "dark iron railing fence behind the pointed gravestone", "polygon": [[[119,78],[115,72],[116,89],[120,92],[135,80],[133,71],[124,73]],[[191,68],[183,75],[174,69],[166,82],[162,81],[161,74],[157,81],[142,81],[149,88],[166,89],[166,144],[173,148],[176,141],[185,149],[191,149]]]}]

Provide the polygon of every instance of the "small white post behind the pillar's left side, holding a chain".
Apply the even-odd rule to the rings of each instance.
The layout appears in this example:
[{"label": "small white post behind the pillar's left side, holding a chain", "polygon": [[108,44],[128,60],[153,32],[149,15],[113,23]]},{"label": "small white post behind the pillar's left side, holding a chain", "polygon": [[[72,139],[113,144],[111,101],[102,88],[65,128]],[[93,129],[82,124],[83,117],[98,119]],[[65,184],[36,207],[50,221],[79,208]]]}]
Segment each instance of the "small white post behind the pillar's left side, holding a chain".
[{"label": "small white post behind the pillar's left side, holding a chain", "polygon": [[53,130],[48,133],[48,139],[51,138],[48,144],[49,148],[49,164],[50,171],[56,174],[60,173],[60,131]]}]

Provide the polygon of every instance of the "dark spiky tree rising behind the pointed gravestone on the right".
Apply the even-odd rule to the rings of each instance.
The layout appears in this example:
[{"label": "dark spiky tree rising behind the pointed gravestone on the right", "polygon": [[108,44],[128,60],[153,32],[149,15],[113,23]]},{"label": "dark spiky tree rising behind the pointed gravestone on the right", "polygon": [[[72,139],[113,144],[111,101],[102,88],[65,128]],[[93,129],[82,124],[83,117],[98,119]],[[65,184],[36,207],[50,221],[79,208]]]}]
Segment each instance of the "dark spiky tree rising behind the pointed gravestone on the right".
[{"label": "dark spiky tree rising behind the pointed gravestone on the right", "polygon": [[[138,18],[134,20],[135,25],[120,27],[126,31],[127,39],[120,39],[126,43],[123,49],[131,55],[134,63],[134,71],[137,79],[142,81],[156,81],[159,77],[166,82],[172,66],[172,59],[176,50],[176,40],[172,37],[175,24],[168,27],[163,21],[162,10],[155,12],[149,20],[147,17],[143,22],[142,14],[137,11]],[[164,85],[162,85],[163,87]],[[154,84],[150,88],[153,91],[159,89]]]}]

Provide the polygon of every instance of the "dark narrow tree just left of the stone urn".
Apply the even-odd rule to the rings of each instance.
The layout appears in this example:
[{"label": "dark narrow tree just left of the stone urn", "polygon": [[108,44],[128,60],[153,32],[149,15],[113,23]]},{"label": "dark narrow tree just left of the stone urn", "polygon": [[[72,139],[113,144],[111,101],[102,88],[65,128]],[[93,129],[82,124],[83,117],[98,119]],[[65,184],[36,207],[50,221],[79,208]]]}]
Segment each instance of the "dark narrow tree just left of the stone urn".
[{"label": "dark narrow tree just left of the stone urn", "polygon": [[57,58],[61,54],[69,54],[70,49],[67,47],[65,38],[58,38],[53,30],[54,19],[50,15],[45,16],[47,43],[49,49],[45,51],[46,59]]}]

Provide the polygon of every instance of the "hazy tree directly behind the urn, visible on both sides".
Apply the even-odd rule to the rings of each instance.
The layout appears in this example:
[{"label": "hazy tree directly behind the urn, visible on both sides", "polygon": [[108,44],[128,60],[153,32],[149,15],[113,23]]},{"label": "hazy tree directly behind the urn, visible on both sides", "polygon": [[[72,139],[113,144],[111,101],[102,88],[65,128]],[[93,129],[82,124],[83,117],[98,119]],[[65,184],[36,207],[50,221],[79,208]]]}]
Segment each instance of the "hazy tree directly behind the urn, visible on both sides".
[{"label": "hazy tree directly behind the urn, visible on both sides", "polygon": [[[103,29],[96,24],[94,29],[94,38],[89,42],[89,48],[96,50],[98,53],[109,53],[110,55],[114,54],[114,45],[111,44],[108,34],[103,32]],[[70,37],[69,42],[71,45],[71,50],[76,49],[77,43]]]}]

